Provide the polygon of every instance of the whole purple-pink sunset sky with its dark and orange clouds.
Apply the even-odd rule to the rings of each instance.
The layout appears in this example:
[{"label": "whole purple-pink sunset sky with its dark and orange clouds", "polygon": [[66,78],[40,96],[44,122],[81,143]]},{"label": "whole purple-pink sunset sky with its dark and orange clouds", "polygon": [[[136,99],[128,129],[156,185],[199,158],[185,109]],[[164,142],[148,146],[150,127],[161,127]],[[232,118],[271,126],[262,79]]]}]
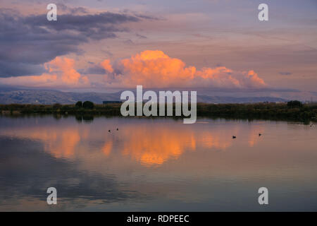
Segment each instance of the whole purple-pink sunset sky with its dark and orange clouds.
[{"label": "whole purple-pink sunset sky with its dark and orange clouds", "polygon": [[0,85],[317,100],[316,12],[316,0],[1,0]]}]

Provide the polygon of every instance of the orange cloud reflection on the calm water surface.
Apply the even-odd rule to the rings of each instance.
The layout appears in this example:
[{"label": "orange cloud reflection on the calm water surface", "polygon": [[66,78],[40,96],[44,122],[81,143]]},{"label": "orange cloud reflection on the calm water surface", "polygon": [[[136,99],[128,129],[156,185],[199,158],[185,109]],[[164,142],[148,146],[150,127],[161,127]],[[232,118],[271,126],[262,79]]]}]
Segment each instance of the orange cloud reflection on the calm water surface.
[{"label": "orange cloud reflection on the calm water surface", "polygon": [[[80,118],[88,120],[85,117]],[[78,117],[76,120],[79,120]],[[42,141],[46,152],[54,157],[66,158],[73,158],[75,152],[80,150],[79,145],[99,141],[94,143],[94,150],[99,150],[105,157],[110,156],[115,149],[116,153],[123,157],[130,157],[142,165],[151,166],[177,160],[185,151],[195,151],[197,148],[225,150],[235,142],[231,138],[232,134],[247,136],[249,146],[253,147],[260,141],[259,131],[264,131],[261,124],[244,131],[241,126],[186,126],[180,122],[169,126],[169,121],[144,120],[123,124],[119,126],[119,131],[114,129],[116,126],[113,121],[112,124],[107,124],[107,121],[99,120],[93,126],[72,124],[70,121],[61,124],[37,124],[36,121],[32,124],[31,121],[27,126],[11,126],[0,130],[0,136]],[[110,133],[108,129],[111,129]],[[88,154],[90,150],[85,148],[83,151]]]}]

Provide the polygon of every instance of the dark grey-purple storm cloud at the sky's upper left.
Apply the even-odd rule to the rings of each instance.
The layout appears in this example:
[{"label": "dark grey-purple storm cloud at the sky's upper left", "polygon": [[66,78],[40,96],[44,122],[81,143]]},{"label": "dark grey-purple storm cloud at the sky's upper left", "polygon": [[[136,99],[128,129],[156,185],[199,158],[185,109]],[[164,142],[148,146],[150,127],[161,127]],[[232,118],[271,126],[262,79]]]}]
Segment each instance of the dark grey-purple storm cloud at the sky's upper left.
[{"label": "dark grey-purple storm cloud at the sky's upper left", "polygon": [[0,9],[0,77],[40,73],[39,64],[69,53],[80,54],[80,44],[116,37],[116,32],[128,31],[121,24],[141,19],[105,12],[63,14],[57,21],[48,21],[46,14],[21,16]]}]

